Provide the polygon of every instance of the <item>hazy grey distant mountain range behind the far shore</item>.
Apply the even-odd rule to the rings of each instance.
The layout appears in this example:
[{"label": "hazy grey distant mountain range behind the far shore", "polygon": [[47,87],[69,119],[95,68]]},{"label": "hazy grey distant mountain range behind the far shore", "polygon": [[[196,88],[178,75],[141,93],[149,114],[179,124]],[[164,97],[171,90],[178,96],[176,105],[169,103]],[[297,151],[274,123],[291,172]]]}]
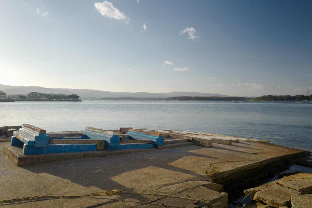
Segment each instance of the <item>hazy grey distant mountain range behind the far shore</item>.
[{"label": "hazy grey distant mountain range behind the far shore", "polygon": [[94,100],[107,97],[132,97],[132,98],[169,98],[176,96],[220,96],[231,97],[223,94],[200,93],[200,92],[169,92],[169,93],[149,93],[149,92],[110,92],[95,89],[68,89],[68,88],[45,88],[38,86],[10,86],[1,85],[0,90],[7,94],[27,94],[30,92],[54,93],[54,94],[77,94],[82,100]]}]

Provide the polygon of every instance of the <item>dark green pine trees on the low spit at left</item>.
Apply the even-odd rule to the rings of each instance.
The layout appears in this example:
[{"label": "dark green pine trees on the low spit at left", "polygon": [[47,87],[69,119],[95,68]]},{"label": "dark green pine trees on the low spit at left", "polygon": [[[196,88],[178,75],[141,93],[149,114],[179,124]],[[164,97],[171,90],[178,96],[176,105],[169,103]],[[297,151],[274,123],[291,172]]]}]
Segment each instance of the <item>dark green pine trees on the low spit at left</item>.
[{"label": "dark green pine trees on the low spit at left", "polygon": [[46,94],[40,92],[30,92],[26,95],[18,94],[17,97],[19,99],[56,99],[56,100],[78,100],[80,96],[76,94]]}]

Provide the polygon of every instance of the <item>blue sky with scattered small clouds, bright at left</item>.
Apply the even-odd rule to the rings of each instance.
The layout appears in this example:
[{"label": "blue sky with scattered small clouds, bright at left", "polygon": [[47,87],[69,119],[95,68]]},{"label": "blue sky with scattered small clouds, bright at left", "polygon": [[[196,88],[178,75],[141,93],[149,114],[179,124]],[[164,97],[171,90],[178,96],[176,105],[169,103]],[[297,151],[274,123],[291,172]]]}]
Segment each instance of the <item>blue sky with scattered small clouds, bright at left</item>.
[{"label": "blue sky with scattered small clouds, bright at left", "polygon": [[312,94],[312,1],[0,1],[0,84]]}]

